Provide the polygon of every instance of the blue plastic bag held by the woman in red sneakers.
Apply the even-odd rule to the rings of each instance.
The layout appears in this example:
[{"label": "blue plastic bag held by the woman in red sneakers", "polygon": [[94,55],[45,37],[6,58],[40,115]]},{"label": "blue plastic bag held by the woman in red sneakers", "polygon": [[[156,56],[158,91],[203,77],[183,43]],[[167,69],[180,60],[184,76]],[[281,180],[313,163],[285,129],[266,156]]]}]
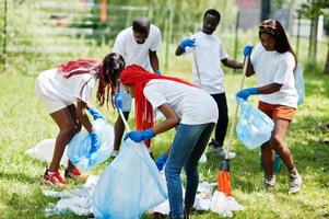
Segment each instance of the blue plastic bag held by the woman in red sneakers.
[{"label": "blue plastic bag held by the woman in red sneakers", "polygon": [[82,171],[90,171],[97,164],[103,163],[110,157],[113,151],[113,127],[104,118],[97,118],[92,124],[101,141],[101,147],[95,152],[90,153],[91,139],[85,129],[78,132],[68,146],[70,161]]}]

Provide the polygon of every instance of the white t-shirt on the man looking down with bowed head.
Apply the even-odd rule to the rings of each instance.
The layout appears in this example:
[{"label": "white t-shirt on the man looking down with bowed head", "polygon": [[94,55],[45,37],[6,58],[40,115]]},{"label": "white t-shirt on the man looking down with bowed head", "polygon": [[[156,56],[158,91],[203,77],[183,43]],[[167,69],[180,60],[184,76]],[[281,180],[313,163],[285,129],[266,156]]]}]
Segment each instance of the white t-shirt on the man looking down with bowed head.
[{"label": "white t-shirt on the man looking down with bowed head", "polygon": [[160,46],[161,32],[157,26],[151,24],[149,36],[143,44],[136,42],[132,26],[130,26],[118,34],[113,51],[124,57],[126,66],[136,64],[151,70],[149,50],[156,51]]}]

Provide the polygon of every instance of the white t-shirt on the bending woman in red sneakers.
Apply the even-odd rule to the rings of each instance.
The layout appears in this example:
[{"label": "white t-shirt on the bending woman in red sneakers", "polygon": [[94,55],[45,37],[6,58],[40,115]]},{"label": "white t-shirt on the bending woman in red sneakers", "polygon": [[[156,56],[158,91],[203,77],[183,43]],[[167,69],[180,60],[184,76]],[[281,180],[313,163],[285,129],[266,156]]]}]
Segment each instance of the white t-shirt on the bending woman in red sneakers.
[{"label": "white t-shirt on the bending woman in red sneakers", "polygon": [[[36,83],[38,83],[42,92],[51,100],[75,103],[80,99],[87,103],[95,85],[95,76],[82,73],[64,78],[57,69],[50,69],[43,71]],[[82,87],[83,90],[81,91]]]}]

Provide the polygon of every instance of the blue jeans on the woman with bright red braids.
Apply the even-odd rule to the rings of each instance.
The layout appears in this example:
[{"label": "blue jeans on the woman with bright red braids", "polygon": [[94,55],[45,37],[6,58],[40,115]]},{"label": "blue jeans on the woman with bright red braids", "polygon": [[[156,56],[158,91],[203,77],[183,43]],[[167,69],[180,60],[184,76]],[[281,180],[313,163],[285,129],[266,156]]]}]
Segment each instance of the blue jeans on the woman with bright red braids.
[{"label": "blue jeans on the woman with bright red braids", "polygon": [[184,166],[187,184],[185,205],[195,204],[199,184],[198,163],[205,150],[214,123],[201,125],[180,124],[176,131],[165,168],[171,206],[171,218],[184,218],[180,172]]}]

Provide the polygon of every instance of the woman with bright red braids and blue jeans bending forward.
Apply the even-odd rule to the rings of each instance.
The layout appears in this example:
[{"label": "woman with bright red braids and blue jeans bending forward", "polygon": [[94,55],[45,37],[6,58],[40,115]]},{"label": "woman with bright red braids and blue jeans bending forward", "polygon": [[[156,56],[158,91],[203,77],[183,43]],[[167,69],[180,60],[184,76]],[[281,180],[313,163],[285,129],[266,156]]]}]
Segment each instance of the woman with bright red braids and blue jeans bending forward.
[{"label": "woman with bright red braids and blue jeans bending forward", "polygon": [[[208,93],[188,82],[151,73],[137,65],[126,67],[119,79],[136,100],[137,130],[128,132],[125,140],[149,140],[178,126],[165,175],[171,218],[188,218],[199,184],[198,163],[219,117],[216,103]],[[154,126],[155,108],[166,119]],[[185,209],[180,180],[183,168],[187,175]]]}]

